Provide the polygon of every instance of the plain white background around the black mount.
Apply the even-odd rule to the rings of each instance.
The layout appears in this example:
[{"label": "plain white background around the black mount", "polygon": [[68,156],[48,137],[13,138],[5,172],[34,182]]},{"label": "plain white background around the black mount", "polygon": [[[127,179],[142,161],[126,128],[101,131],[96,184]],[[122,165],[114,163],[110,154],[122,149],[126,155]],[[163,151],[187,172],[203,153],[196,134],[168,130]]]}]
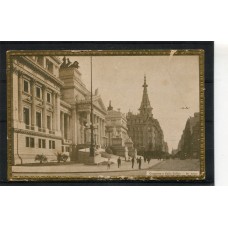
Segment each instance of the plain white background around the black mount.
[{"label": "plain white background around the black mount", "polygon": [[226,1],[2,1],[0,19],[6,41],[215,41],[215,180],[223,186],[0,187],[1,227],[227,227]]}]

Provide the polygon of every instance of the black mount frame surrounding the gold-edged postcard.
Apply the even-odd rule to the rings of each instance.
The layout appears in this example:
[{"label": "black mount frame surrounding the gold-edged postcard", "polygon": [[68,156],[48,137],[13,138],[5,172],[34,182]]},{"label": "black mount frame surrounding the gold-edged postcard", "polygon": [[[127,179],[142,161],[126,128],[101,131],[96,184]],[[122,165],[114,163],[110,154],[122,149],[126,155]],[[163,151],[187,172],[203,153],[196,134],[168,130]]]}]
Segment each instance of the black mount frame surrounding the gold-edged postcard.
[{"label": "black mount frame surrounding the gold-edged postcard", "polygon": [[[205,130],[206,178],[198,181],[7,181],[7,97],[6,51],[9,50],[138,50],[138,49],[203,49],[205,51]],[[213,42],[0,42],[0,184],[1,185],[213,185],[214,184],[214,104]]]}]

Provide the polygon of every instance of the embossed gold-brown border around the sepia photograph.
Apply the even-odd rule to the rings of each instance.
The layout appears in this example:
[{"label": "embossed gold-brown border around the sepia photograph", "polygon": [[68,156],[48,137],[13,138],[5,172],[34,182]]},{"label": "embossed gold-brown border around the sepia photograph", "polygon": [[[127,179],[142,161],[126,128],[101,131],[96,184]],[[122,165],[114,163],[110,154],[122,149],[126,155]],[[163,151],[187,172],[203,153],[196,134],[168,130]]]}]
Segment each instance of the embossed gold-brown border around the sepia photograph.
[{"label": "embossed gold-brown border around the sepia photograph", "polygon": [[[13,56],[31,56],[31,55],[46,55],[46,56],[170,56],[174,49],[141,49],[141,50],[9,50],[7,51],[7,135],[8,142],[12,142],[11,129],[11,110],[12,110],[12,96],[11,96],[11,58]],[[199,56],[199,100],[200,100],[200,175],[199,176],[134,176],[134,177],[72,177],[72,176],[12,176],[12,143],[7,144],[7,177],[9,181],[103,181],[103,180],[121,180],[121,181],[195,181],[205,180],[205,52],[203,49],[179,49],[175,50],[175,56]]]}]

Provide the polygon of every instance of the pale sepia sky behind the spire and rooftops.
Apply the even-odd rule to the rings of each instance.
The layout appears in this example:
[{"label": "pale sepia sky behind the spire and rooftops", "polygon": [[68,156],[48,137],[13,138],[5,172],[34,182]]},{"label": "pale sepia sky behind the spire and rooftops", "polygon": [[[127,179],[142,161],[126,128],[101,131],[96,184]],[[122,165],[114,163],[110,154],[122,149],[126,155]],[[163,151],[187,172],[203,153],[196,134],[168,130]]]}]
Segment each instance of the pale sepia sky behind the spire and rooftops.
[{"label": "pale sepia sky behind the spire and rooftops", "polygon": [[[79,62],[82,81],[90,89],[90,57],[69,57]],[[199,112],[198,56],[94,56],[93,89],[99,88],[107,107],[138,112],[144,74],[153,116],[164,132],[165,141],[176,149],[186,120]],[[190,109],[181,109],[182,107]]]}]

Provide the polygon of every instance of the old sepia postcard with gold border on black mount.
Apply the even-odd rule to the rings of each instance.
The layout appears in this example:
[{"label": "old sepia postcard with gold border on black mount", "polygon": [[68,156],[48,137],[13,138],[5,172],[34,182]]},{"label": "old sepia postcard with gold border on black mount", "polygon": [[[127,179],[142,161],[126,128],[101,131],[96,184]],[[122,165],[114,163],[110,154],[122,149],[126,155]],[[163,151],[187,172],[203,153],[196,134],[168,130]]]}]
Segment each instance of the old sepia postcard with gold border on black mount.
[{"label": "old sepia postcard with gold border on black mount", "polygon": [[9,180],[203,180],[204,50],[9,51]]}]

